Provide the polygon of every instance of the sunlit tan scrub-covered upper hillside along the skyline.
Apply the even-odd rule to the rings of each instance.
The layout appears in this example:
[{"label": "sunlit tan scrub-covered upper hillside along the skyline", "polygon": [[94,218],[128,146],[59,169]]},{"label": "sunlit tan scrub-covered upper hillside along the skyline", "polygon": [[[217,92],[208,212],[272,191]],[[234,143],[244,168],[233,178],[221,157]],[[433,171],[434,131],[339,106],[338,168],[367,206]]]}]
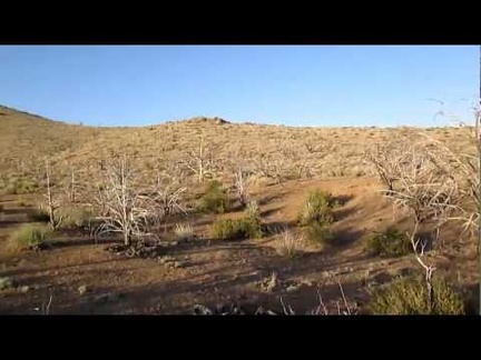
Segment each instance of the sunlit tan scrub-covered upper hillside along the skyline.
[{"label": "sunlit tan scrub-covered upper hillside along the skyline", "polygon": [[[275,163],[286,174],[308,170],[311,177],[363,176],[369,172],[364,152],[399,133],[415,136],[413,128],[301,128],[230,123],[193,119],[151,127],[94,128],[67,124],[0,107],[0,163],[4,172],[33,171],[48,158],[52,167],[76,169],[86,178],[100,160],[126,154],[145,170],[179,161],[197,150],[200,139],[214,160],[238,158]],[[446,143],[462,143],[459,128],[426,132]],[[237,154],[237,156],[236,156]]]}]

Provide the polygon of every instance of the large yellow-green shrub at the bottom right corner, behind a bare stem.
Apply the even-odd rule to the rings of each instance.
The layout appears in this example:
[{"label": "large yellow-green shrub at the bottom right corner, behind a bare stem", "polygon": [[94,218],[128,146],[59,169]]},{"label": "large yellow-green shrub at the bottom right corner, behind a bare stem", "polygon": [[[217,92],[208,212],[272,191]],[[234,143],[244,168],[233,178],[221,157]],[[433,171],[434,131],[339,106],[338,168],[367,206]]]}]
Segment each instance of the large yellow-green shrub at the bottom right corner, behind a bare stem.
[{"label": "large yellow-green shrub at the bottom right corner, behind a bare stem", "polygon": [[372,293],[369,310],[373,314],[463,314],[464,302],[444,279],[433,279],[434,301],[429,310],[424,278],[405,278]]}]

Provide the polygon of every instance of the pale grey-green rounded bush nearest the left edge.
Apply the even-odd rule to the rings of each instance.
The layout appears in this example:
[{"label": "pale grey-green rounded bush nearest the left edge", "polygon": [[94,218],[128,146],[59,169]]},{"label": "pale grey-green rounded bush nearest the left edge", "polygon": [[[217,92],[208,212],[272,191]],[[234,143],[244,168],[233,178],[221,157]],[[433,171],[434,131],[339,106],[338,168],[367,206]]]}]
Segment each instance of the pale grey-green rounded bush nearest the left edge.
[{"label": "pale grey-green rounded bush nearest the left edge", "polygon": [[45,224],[23,224],[9,238],[12,251],[39,250],[45,244],[50,228]]}]

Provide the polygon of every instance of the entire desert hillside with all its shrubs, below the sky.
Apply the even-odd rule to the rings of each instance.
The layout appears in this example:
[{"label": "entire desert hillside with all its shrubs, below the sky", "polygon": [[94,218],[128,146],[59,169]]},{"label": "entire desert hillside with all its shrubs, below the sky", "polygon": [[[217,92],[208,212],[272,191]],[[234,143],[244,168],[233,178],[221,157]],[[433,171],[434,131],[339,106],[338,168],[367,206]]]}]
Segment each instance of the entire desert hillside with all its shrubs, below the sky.
[{"label": "entire desert hillside with all its shrubs, below the sky", "polygon": [[[475,239],[438,221],[479,216],[471,163],[441,156],[472,152],[467,133],[218,118],[95,128],[0,107],[0,313],[473,312]],[[120,210],[118,191],[131,197]],[[435,266],[434,308],[420,259]]]}]

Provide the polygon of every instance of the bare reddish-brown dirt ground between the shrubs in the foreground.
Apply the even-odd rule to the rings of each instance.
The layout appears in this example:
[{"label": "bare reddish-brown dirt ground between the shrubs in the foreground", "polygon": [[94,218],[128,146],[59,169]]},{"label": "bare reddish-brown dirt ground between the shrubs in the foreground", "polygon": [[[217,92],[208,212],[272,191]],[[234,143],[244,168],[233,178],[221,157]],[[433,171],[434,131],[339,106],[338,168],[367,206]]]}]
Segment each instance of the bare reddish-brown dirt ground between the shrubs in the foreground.
[{"label": "bare reddish-brown dirt ground between the shrubs in the foreground", "polygon": [[[12,277],[18,287],[0,290],[0,313],[36,314],[48,308],[50,314],[179,314],[193,313],[195,304],[228,302],[253,311],[259,306],[281,311],[281,299],[296,313],[305,313],[318,304],[317,290],[328,312],[337,313],[343,301],[338,283],[351,307],[362,312],[372,286],[421,272],[413,257],[381,259],[365,253],[363,237],[394,222],[391,202],[376,192],[381,187],[371,178],[288,181],[257,189],[254,198],[259,201],[263,221],[269,227],[294,227],[310,189],[331,191],[341,200],[333,226],[340,244],[322,251],[305,247],[294,259],[276,253],[275,236],[209,240],[214,216],[189,218],[198,238],[173,247],[170,261],[120,257],[106,251],[119,240],[95,243],[80,232],[56,234],[51,249],[10,253],[7,238],[28,222],[28,208],[22,202],[29,197],[3,196],[0,277]],[[478,281],[474,256],[454,259],[433,254],[432,260],[458,281]],[[263,283],[273,272],[278,281],[267,291]]]}]

